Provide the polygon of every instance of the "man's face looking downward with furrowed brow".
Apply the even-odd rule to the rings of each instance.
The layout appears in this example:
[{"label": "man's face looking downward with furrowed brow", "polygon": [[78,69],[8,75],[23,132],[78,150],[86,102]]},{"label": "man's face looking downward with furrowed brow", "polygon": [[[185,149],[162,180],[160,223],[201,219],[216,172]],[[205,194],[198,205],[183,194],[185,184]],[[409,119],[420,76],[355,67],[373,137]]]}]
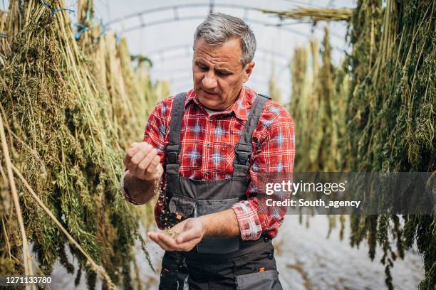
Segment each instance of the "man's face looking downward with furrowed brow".
[{"label": "man's face looking downward with furrowed brow", "polygon": [[234,104],[254,68],[254,63],[243,67],[241,55],[241,41],[237,38],[219,46],[208,45],[204,38],[199,38],[194,48],[192,74],[195,94],[204,107],[222,111]]}]

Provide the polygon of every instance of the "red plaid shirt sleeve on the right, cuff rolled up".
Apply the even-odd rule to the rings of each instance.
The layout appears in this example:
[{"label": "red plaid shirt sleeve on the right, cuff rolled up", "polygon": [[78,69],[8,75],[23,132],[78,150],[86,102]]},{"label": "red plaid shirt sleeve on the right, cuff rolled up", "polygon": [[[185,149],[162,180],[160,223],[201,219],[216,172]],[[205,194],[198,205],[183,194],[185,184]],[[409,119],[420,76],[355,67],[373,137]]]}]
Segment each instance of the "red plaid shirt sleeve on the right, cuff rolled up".
[{"label": "red plaid shirt sleeve on the right, cuff rolled up", "polygon": [[[294,122],[286,109],[275,102],[271,103],[266,107],[266,114],[263,113],[259,120],[259,147],[251,159],[251,181],[246,191],[248,197],[254,194],[264,196],[261,176],[266,173],[294,171]],[[274,200],[284,200],[289,196],[281,194]],[[286,206],[269,208],[264,198],[259,197],[242,200],[232,208],[237,215],[242,240],[257,240],[264,230],[269,232],[271,238],[275,237],[287,211]]]}]

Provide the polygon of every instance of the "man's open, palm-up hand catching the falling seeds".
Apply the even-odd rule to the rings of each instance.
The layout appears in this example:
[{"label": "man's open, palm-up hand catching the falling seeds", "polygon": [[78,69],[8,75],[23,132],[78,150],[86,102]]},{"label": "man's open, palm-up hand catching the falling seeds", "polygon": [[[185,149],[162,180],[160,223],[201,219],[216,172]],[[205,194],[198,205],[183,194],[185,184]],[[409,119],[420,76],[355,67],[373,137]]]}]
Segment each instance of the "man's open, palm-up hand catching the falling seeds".
[{"label": "man's open, palm-up hand catching the falling seeds", "polygon": [[164,232],[148,232],[148,237],[155,241],[165,251],[188,252],[204,237],[205,226],[201,218],[188,218],[171,228],[180,233],[176,238]]}]

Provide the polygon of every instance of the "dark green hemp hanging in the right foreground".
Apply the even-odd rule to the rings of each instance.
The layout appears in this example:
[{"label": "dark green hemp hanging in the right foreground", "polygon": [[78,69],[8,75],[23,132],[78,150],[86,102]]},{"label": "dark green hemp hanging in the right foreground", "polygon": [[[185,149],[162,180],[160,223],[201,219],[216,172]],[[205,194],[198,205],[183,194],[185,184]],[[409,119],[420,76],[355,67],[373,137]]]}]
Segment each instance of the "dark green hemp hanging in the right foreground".
[{"label": "dark green hemp hanging in the right foreground", "polygon": [[[388,0],[385,6],[382,1],[358,1],[349,33],[351,171],[435,172],[435,22],[435,1]],[[393,289],[390,268],[416,242],[425,268],[419,289],[434,289],[436,213],[402,219],[389,213],[353,215],[351,244],[368,240],[371,259],[376,244],[382,247],[386,284]]]}]

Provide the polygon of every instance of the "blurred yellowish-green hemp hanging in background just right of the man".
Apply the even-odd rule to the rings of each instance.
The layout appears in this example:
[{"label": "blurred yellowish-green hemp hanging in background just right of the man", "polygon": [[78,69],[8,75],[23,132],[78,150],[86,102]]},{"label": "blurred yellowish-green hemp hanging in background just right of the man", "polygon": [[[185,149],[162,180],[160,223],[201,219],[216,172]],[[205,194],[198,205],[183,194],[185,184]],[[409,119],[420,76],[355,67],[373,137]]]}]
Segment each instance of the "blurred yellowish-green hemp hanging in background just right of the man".
[{"label": "blurred yellowish-green hemp hanging in background just right of the man", "polygon": [[348,77],[331,64],[331,45],[325,28],[323,43],[311,39],[291,61],[290,112],[296,122],[296,172],[338,172],[344,167],[345,108]]}]

